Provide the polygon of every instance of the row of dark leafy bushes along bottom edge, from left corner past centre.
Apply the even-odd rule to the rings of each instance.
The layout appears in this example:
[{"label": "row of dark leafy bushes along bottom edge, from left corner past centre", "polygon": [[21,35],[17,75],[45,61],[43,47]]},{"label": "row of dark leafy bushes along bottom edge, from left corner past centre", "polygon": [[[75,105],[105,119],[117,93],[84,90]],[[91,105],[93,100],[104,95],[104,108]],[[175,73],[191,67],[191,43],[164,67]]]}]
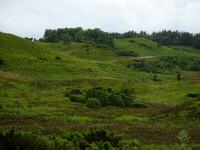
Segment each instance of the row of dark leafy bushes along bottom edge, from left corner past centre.
[{"label": "row of dark leafy bushes along bottom edge, from left corner past centre", "polygon": [[14,128],[0,132],[1,150],[67,150],[67,149],[129,149],[140,148],[138,141],[104,129],[64,132],[62,136],[42,135],[39,131],[18,131]]}]

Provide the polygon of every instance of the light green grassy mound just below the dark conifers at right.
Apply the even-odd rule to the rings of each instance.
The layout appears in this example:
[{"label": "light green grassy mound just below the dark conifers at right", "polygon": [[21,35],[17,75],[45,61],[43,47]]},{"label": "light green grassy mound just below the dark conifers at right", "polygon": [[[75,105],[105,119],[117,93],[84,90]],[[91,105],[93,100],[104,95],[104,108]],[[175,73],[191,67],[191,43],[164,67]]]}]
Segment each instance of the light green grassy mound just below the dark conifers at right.
[{"label": "light green grassy mound just below the dark conifers at right", "polygon": [[[160,46],[157,43],[143,38],[115,39],[116,47],[120,50],[129,50],[138,53],[139,56],[196,56],[199,57],[199,50],[192,47]],[[176,51],[174,49],[177,49]]]}]

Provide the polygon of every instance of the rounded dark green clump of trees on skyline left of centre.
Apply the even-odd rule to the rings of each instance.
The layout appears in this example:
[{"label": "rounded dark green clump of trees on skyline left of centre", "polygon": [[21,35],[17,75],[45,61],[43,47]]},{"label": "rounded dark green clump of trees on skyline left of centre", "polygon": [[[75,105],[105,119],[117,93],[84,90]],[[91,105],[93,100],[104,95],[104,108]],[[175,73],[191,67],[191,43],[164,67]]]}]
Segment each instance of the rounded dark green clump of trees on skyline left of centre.
[{"label": "rounded dark green clump of trees on skyline left of centre", "polygon": [[44,37],[41,38],[40,41],[52,43],[63,42],[64,44],[70,42],[84,42],[110,47],[114,46],[113,37],[109,33],[103,32],[98,28],[87,30],[83,30],[81,27],[56,30],[47,29],[44,33]]}]

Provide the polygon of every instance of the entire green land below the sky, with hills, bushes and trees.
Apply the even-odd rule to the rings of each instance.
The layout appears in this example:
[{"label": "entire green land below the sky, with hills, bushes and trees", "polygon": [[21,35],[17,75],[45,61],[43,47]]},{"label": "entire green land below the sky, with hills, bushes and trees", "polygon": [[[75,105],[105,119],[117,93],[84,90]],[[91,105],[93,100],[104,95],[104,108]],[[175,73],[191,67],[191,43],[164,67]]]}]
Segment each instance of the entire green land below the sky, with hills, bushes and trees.
[{"label": "entire green land below the sky, with hills, bushes and trees", "polygon": [[0,33],[0,149],[200,149],[198,37]]}]

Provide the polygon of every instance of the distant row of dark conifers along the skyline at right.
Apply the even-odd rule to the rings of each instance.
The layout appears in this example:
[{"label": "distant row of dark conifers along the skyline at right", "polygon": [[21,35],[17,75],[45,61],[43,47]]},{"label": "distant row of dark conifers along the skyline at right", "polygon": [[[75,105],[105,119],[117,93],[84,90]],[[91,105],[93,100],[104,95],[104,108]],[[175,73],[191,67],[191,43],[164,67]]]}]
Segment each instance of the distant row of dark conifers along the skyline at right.
[{"label": "distant row of dark conifers along the skyline at right", "polygon": [[139,33],[128,31],[125,33],[111,33],[111,35],[113,38],[148,38],[165,46],[185,45],[200,48],[200,34],[192,34],[189,32],[163,30],[161,32],[148,34],[145,31]]}]

